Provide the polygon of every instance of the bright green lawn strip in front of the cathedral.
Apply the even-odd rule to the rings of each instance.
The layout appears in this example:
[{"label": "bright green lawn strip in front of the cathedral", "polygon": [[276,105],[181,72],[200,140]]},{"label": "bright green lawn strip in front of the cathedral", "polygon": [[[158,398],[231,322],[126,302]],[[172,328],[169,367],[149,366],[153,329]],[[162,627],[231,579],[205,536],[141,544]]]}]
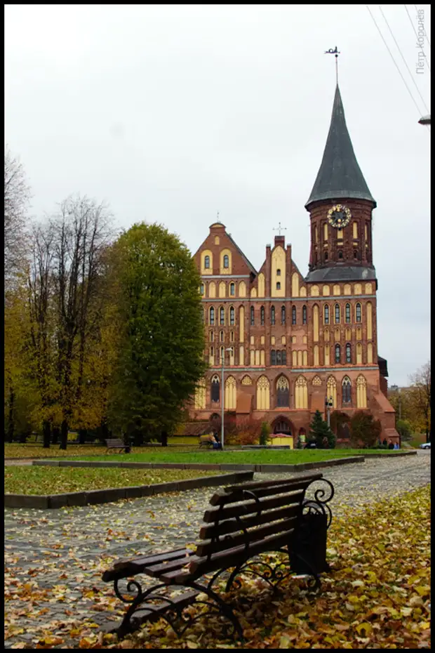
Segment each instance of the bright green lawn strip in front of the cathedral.
[{"label": "bright green lawn strip in front of the cathedral", "polygon": [[[375,453],[391,453],[384,449],[375,449]],[[314,461],[325,461],[331,458],[340,458],[342,456],[355,456],[356,454],[363,454],[364,456],[370,455],[370,449],[307,449],[307,450],[286,450],[279,449],[278,451],[271,451],[270,449],[259,449],[244,451],[173,451],[173,448],[162,449],[148,449],[140,453],[133,454],[109,454],[106,456],[79,456],[75,460],[88,460],[88,461],[119,461],[123,462],[143,462],[143,463],[246,463],[250,465],[255,464],[290,464],[295,463],[312,463]]]}]

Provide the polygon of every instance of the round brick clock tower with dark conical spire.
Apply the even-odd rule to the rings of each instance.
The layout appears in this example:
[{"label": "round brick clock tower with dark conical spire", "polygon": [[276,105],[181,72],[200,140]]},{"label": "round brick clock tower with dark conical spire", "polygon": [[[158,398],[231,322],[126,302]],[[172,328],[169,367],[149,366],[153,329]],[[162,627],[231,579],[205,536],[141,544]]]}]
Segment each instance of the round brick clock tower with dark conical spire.
[{"label": "round brick clock tower with dark conical spire", "polygon": [[337,86],[323,159],[305,204],[311,222],[308,282],[375,279],[375,208],[356,161]]}]

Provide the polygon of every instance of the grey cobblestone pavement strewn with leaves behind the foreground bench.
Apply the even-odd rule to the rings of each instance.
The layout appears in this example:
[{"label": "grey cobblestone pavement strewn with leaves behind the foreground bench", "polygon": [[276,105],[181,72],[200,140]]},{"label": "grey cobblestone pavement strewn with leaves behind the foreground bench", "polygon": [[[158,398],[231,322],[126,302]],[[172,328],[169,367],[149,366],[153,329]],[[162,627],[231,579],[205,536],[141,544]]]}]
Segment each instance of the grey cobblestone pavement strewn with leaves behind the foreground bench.
[{"label": "grey cobblestone pavement strewn with leaves behind the foreground bench", "polygon": [[[323,468],[323,476],[335,487],[330,503],[333,515],[340,515],[346,506],[358,509],[428,484],[430,456],[430,451],[418,451],[416,456],[396,460],[377,458]],[[292,475],[254,477],[286,476]],[[6,647],[18,642],[34,647],[44,632],[58,633],[63,640],[60,647],[71,647],[73,640],[67,635],[71,628],[81,628],[90,619],[94,627],[110,619],[119,621],[120,602],[112,586],[102,582],[102,571],[116,558],[193,544],[215,491],[194,489],[60,510],[6,508],[6,619],[12,631],[23,629],[8,637]],[[28,594],[20,593],[23,583]],[[91,628],[89,633],[95,632]]]}]

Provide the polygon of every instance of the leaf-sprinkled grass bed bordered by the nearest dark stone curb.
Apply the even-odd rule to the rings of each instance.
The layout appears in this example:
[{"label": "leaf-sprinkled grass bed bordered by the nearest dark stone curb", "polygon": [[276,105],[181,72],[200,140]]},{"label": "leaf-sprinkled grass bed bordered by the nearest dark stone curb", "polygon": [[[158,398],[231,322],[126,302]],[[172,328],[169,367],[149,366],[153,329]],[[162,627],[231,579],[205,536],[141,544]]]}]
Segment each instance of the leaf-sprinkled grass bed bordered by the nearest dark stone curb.
[{"label": "leaf-sprinkled grass bed bordered by the nearest dark stone curb", "polygon": [[154,485],[213,476],[218,471],[184,469],[112,469],[74,467],[5,467],[4,488],[11,494],[62,494],[84,490]]}]

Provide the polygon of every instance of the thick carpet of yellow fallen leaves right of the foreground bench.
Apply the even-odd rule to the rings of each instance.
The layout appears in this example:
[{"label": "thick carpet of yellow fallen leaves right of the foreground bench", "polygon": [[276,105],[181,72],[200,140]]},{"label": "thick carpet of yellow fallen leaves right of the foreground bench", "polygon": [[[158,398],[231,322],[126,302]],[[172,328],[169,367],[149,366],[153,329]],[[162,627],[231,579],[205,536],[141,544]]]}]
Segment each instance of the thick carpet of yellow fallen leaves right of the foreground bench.
[{"label": "thick carpet of yellow fallen leaves right of the foreground bench", "polygon": [[[306,593],[302,580],[290,580],[283,600],[254,603],[241,619],[243,648],[430,647],[429,487],[336,520],[328,554],[333,572],[319,598]],[[245,581],[243,593],[256,588],[257,581]],[[235,647],[221,632],[217,620],[207,619],[179,641],[161,620],[121,646]],[[98,635],[89,645],[94,641]]]}]

